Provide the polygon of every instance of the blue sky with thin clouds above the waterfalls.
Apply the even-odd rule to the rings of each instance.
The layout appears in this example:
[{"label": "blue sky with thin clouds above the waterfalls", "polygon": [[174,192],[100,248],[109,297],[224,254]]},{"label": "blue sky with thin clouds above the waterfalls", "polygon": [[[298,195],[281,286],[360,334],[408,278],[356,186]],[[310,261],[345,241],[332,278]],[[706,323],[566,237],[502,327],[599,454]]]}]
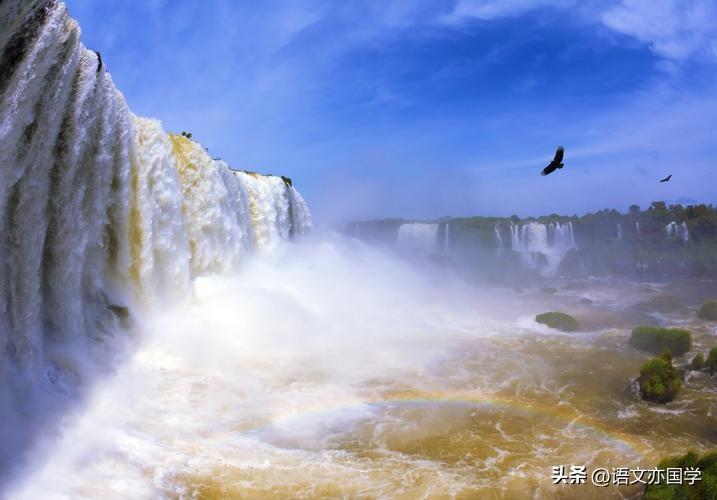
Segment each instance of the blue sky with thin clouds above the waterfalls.
[{"label": "blue sky with thin clouds above the waterfalls", "polygon": [[135,113],[320,222],[717,202],[717,0],[67,4]]}]

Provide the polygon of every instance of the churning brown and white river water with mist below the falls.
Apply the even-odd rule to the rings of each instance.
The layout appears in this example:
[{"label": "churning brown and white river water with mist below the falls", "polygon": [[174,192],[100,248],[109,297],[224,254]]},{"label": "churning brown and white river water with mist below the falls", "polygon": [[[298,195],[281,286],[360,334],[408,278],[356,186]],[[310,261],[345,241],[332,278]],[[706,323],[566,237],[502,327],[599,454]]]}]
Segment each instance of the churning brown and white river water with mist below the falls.
[{"label": "churning brown and white river water with mist below the falls", "polygon": [[[551,467],[714,446],[715,382],[692,377],[666,406],[631,388],[647,355],[625,303],[661,286],[556,286],[482,289],[341,239],[200,279],[11,496],[635,498],[552,486]],[[533,321],[555,307],[582,331]],[[693,312],[662,321],[695,332],[686,359],[715,344]]]}]

